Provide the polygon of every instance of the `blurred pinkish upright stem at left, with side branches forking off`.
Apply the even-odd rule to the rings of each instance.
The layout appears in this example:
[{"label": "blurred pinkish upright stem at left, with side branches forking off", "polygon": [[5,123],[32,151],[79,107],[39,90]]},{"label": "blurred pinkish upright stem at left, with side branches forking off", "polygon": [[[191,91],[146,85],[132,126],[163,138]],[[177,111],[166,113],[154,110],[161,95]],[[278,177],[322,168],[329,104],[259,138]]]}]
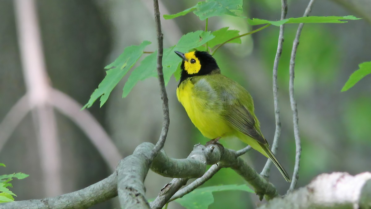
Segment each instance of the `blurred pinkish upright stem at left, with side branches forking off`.
[{"label": "blurred pinkish upright stem at left, with side branches forking off", "polygon": [[20,57],[32,111],[41,169],[45,179],[45,193],[62,193],[61,160],[57,125],[53,107],[47,103],[50,86],[46,73],[35,1],[14,1]]}]

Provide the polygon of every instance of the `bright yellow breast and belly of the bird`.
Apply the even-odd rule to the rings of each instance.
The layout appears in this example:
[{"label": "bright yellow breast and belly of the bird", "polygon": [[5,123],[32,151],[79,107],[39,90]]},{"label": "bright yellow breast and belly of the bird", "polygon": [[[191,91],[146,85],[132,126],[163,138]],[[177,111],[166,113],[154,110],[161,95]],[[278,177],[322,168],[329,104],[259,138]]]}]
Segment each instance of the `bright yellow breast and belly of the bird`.
[{"label": "bright yellow breast and belly of the bird", "polygon": [[205,137],[214,139],[233,131],[223,117],[223,104],[218,93],[204,78],[197,83],[185,80],[177,88],[177,97],[188,117]]}]

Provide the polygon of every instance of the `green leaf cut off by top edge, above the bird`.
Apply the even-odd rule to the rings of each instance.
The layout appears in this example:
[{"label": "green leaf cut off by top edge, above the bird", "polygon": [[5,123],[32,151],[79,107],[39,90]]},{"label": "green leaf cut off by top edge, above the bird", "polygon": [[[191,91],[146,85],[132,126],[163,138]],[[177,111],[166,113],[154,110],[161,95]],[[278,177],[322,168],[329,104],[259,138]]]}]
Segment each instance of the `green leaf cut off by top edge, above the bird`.
[{"label": "green leaf cut off by top edge, above the bird", "polygon": [[242,16],[242,0],[206,0],[200,1],[195,6],[184,10],[183,12],[174,15],[164,15],[165,19],[173,19],[175,17],[186,15],[193,12],[200,20],[205,20],[209,17],[230,15],[234,17]]}]

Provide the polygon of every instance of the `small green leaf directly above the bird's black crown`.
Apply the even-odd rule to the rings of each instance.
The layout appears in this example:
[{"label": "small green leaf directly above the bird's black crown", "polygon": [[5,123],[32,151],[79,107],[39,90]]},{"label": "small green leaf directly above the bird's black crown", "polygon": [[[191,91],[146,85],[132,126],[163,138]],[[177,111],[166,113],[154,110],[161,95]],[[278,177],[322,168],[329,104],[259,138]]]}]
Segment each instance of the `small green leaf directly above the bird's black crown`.
[{"label": "small green leaf directly above the bird's black crown", "polygon": [[[209,45],[210,48],[213,48],[214,46],[218,44],[223,44],[229,39],[239,36],[239,32],[240,32],[239,30],[228,30],[228,29],[229,27],[225,27],[225,28],[221,28],[219,30],[215,30],[214,32],[212,32],[211,34],[214,35],[215,38],[207,42],[207,45]],[[233,39],[232,41],[229,41],[228,43],[241,44],[241,38]]]}]

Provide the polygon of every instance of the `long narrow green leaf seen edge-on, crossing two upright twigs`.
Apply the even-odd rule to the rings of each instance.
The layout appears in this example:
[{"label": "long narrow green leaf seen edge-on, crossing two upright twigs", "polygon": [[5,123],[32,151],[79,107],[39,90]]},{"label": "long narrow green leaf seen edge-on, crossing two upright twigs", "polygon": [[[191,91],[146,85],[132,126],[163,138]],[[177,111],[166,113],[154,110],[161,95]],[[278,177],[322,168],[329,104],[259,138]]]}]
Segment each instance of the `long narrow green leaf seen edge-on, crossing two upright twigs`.
[{"label": "long narrow green leaf seen edge-on, crossing two upright twigs", "polygon": [[278,21],[270,21],[270,20],[262,20],[262,19],[247,19],[247,23],[250,25],[262,25],[262,24],[272,24],[275,26],[280,26],[285,23],[345,23],[347,21],[341,21],[341,20],[359,20],[361,18],[354,17],[352,15],[348,16],[309,16],[309,17],[298,17],[298,18],[289,18],[284,20],[278,20]]}]

